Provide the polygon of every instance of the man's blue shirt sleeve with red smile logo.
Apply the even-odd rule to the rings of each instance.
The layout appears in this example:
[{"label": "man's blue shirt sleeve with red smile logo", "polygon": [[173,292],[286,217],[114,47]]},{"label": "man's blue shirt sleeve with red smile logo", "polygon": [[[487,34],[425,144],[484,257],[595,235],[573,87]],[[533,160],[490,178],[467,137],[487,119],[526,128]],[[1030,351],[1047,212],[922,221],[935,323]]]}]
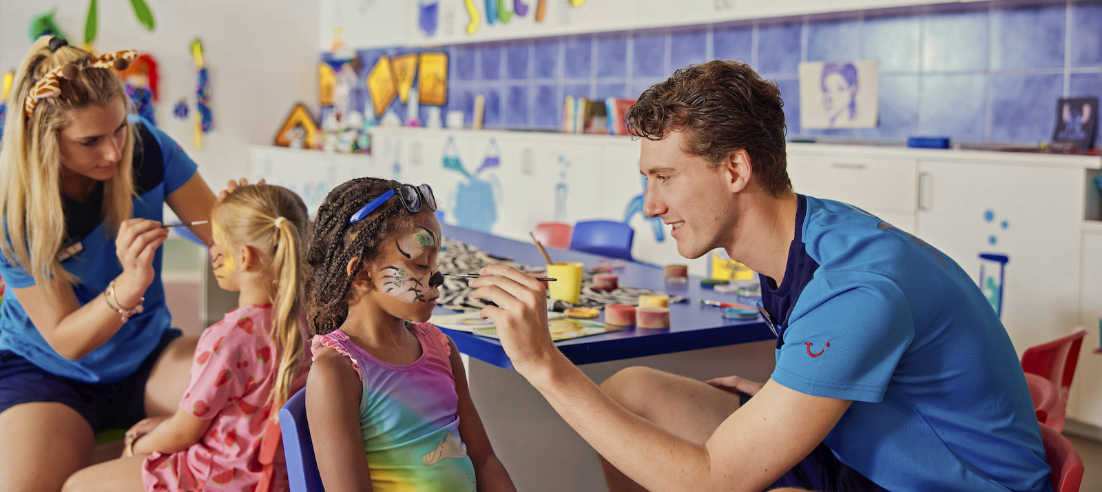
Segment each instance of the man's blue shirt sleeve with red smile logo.
[{"label": "man's blue shirt sleeve with red smile logo", "polygon": [[910,303],[872,275],[808,284],[771,378],[808,395],[877,403],[915,336]]}]

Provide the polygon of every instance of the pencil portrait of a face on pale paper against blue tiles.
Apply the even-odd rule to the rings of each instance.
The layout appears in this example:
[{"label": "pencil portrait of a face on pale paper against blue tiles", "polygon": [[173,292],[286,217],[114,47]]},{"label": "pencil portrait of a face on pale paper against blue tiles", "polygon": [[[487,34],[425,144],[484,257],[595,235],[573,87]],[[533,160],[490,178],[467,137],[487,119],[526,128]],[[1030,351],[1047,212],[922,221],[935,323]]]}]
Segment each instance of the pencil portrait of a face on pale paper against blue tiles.
[{"label": "pencil portrait of a face on pale paper against blue tiles", "polygon": [[803,62],[799,72],[801,127],[876,127],[875,60]]}]

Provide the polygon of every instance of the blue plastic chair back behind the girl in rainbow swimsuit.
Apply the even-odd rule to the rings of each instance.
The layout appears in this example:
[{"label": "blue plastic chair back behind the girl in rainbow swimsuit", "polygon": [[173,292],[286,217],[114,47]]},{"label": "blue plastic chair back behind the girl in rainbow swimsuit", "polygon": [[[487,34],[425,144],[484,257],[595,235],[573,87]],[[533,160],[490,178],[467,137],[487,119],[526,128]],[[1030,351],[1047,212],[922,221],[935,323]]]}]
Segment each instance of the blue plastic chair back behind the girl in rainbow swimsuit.
[{"label": "blue plastic chair back behind the girl in rainbow swimsuit", "polygon": [[283,456],[291,490],[324,492],[322,475],[314,458],[314,441],[310,439],[306,424],[306,389],[295,393],[279,410],[279,425],[283,435]]}]

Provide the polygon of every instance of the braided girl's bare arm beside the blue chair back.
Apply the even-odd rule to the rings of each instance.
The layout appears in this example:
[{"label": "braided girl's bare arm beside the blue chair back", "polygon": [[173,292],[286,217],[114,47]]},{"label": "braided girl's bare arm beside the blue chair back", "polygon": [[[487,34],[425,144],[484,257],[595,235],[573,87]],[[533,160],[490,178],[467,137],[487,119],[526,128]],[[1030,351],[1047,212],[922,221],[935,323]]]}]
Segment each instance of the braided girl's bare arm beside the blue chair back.
[{"label": "braided girl's bare arm beside the blue chair back", "polygon": [[317,471],[326,490],[371,490],[371,473],[359,429],[359,374],[348,357],[323,349],[306,379],[306,416]]}]

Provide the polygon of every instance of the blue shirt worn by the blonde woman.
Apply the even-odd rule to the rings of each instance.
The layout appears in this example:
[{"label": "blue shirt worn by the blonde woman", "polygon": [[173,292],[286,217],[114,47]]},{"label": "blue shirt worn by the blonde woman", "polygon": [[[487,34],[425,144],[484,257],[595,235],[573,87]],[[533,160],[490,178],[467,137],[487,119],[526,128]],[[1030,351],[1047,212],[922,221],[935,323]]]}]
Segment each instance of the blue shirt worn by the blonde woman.
[{"label": "blue shirt worn by the blonde woman", "polygon": [[[186,183],[195,174],[196,165],[172,138],[148,120],[137,116],[130,120],[137,137],[133,217],[161,221],[164,197]],[[80,306],[94,300],[108,282],[122,274],[115,254],[115,237],[107,235],[100,216],[101,204],[102,185],[97,185],[84,203],[66,197],[62,204],[67,236],[63,250],[76,244],[83,248],[61,263],[62,268],[79,279],[73,291]],[[12,289],[31,287],[34,279],[0,255],[0,276],[7,284],[0,303],[0,350],[12,351],[50,373],[85,383],[114,382],[130,375],[171,327],[161,284],[162,250],[158,248],[153,258],[154,277],[145,290],[145,311],[130,318],[107,342],[76,361],[58,355],[31,323]]]}]

